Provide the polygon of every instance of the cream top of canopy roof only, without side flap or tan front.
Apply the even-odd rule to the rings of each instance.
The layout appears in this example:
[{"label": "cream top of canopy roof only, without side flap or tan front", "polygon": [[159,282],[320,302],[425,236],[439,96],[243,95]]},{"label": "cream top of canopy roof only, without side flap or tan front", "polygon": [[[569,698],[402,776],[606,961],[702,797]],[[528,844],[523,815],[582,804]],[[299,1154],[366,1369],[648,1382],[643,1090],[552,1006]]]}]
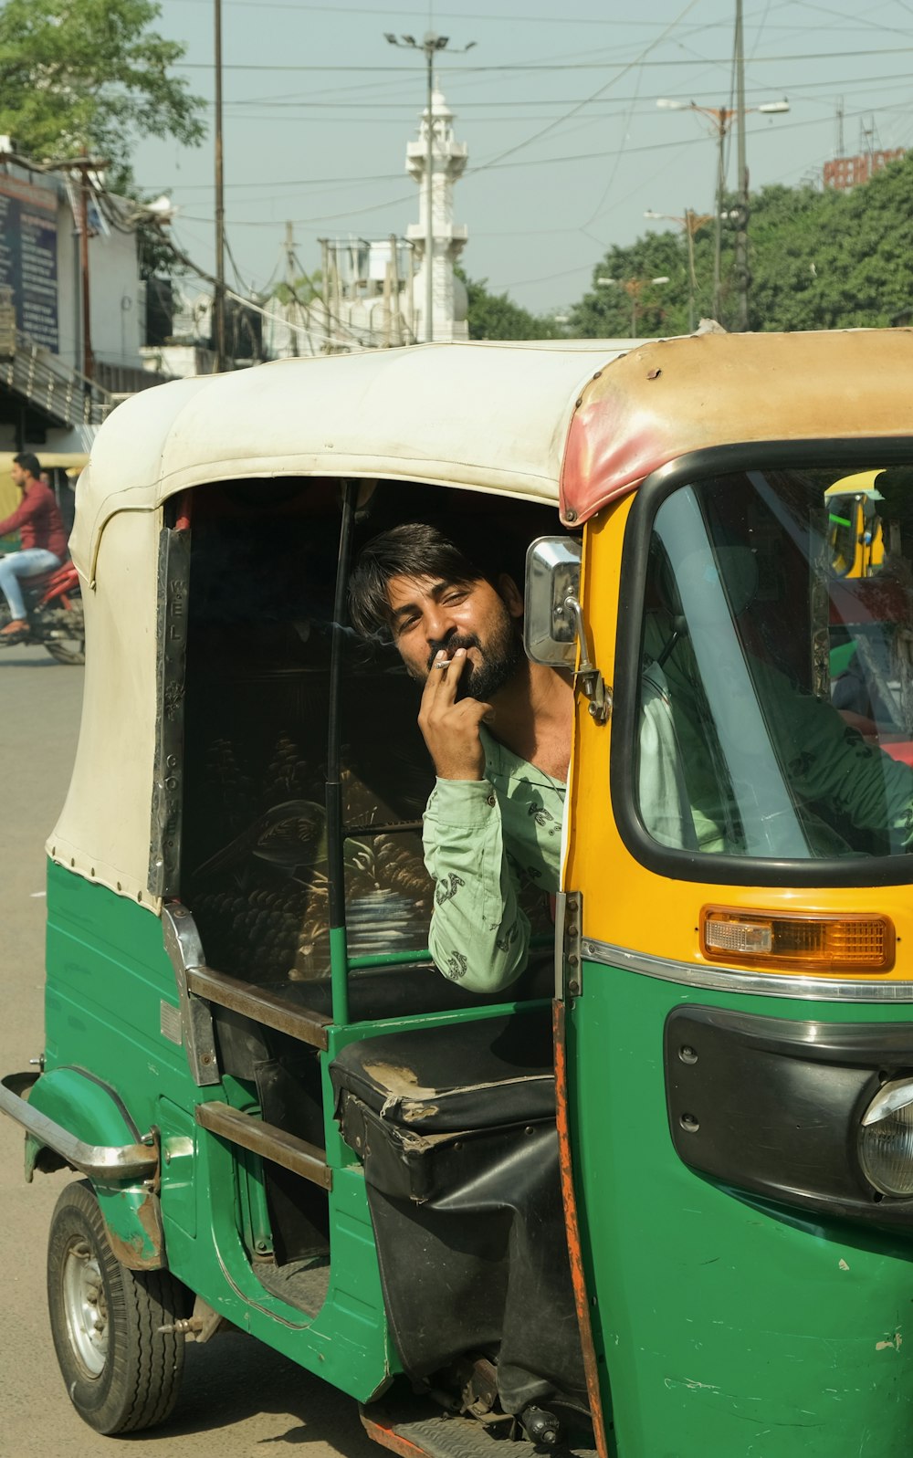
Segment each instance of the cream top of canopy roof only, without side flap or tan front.
[{"label": "cream top of canopy roof only, without side flap or tan front", "polygon": [[557,502],[575,402],[632,341],[426,344],[279,360],[125,401],[79,483],[73,560],[95,577],[118,512],[203,481],[360,475]]}]

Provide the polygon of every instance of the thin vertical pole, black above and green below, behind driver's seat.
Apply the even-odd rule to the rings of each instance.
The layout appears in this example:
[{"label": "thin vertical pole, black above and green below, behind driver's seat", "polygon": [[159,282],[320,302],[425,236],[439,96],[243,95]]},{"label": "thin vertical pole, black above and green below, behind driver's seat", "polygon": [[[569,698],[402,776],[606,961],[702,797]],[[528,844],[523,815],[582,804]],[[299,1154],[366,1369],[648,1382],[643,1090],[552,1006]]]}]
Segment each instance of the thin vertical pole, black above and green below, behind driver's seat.
[{"label": "thin vertical pole, black above and green below, behind driver's seat", "polygon": [[343,825],[343,770],[340,761],[343,653],[346,649],[346,598],[349,590],[349,561],[351,557],[351,528],[357,484],[343,484],[343,518],[340,550],[335,569],[335,598],[333,604],[333,639],[330,649],[330,714],[327,722],[327,870],[330,881],[330,983],[333,989],[333,1021],[349,1022],[349,949],[346,946],[346,835]]}]

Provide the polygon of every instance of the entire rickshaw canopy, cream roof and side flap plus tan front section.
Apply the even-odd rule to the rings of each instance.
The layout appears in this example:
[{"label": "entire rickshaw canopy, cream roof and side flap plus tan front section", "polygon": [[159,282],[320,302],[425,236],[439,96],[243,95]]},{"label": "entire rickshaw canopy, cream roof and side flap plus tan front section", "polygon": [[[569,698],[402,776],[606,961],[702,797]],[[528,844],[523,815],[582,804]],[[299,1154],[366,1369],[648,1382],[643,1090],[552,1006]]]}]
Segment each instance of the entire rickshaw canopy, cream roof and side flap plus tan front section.
[{"label": "entire rickshaw canopy, cream roof and side flap plus tan front section", "polygon": [[150,824],[156,716],[169,703],[156,681],[158,560],[160,507],[175,493],[258,477],[388,478],[560,499],[564,521],[585,522],[688,451],[907,436],[912,370],[909,330],[429,344],[133,397],[99,430],[77,488],[70,545],[89,655],[51,856],[159,908]]}]

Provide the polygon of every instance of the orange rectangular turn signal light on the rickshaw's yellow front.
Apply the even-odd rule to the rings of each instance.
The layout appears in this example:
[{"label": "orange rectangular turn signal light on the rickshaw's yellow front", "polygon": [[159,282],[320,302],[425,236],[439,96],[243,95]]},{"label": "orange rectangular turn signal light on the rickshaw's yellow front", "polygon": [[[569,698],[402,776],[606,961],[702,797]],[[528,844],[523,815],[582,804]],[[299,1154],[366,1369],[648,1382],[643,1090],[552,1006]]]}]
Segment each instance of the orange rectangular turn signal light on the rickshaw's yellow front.
[{"label": "orange rectangular turn signal light on the rickshaw's yellow front", "polygon": [[894,923],[865,911],[818,916],[704,907],[700,951],[712,962],[742,962],[772,971],[890,972]]}]

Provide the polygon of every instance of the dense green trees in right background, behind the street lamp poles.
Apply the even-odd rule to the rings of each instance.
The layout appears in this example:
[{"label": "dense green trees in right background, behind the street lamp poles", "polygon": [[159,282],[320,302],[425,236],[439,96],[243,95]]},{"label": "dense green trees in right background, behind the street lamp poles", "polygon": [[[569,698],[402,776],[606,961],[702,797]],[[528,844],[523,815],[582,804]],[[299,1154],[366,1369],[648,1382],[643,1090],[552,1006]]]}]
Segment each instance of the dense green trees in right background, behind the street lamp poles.
[{"label": "dense green trees in right background, behind the street lamp poles", "polygon": [[[735,198],[723,200],[723,213]],[[748,328],[836,330],[887,327],[913,305],[913,153],[847,192],[769,187],[753,195],[748,219]],[[735,225],[720,230],[720,319],[735,327]],[[694,322],[713,312],[715,225],[694,235]],[[667,284],[648,280],[668,276]],[[594,268],[594,287],[572,309],[570,332],[594,338],[688,330],[688,251],[684,227],[646,233],[630,248],[610,248]],[[617,278],[618,284],[598,284]]]}]

